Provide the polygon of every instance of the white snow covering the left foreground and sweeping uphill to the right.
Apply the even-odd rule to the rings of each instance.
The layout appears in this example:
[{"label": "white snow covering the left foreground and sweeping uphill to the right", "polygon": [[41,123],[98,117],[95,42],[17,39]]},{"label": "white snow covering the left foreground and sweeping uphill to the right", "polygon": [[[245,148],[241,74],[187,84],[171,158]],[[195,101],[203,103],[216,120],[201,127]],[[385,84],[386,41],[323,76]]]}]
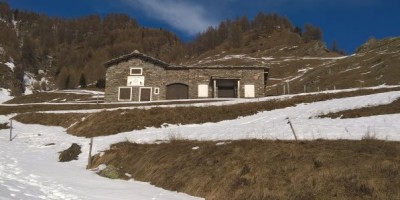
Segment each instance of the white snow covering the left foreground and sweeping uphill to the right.
[{"label": "white snow covering the left foreground and sweeping uphill to the right", "polygon": [[[388,104],[400,92],[385,92],[359,97],[300,104],[260,112],[218,123],[166,125],[145,130],[96,137],[94,153],[122,141],[154,143],[171,138],[193,140],[283,139],[294,136],[287,124],[293,123],[300,139],[360,140],[372,135],[400,141],[400,114],[355,119],[316,118],[316,116],[371,105]],[[238,100],[243,101],[243,100]],[[250,100],[249,100],[250,101]],[[232,102],[218,102],[231,104]],[[72,111],[71,111],[72,112]],[[0,123],[11,116],[0,116]],[[109,180],[86,170],[89,139],[71,136],[61,127],[25,125],[14,122],[16,138],[9,142],[9,130],[0,130],[0,200],[5,199],[196,199],[185,194],[156,188],[148,183]],[[48,145],[52,144],[54,145]],[[72,143],[82,146],[79,160],[59,163],[58,153]]]}]

